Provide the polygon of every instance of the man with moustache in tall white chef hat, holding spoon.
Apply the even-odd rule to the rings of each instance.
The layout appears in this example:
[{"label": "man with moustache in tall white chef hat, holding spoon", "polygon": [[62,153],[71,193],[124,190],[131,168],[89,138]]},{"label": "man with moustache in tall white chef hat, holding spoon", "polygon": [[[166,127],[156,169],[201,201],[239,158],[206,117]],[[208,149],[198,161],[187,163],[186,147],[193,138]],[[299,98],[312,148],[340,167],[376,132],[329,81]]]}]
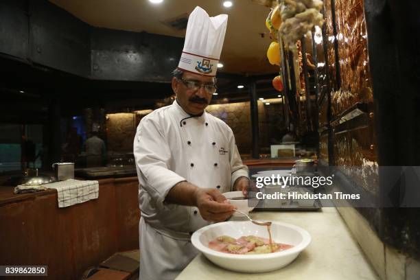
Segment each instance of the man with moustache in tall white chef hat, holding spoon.
[{"label": "man with moustache in tall white chef hat, holding spoon", "polygon": [[226,25],[226,14],[209,17],[196,7],[172,78],[176,100],[137,127],[141,280],[174,279],[198,253],[194,231],[232,215],[222,193],[248,189],[231,128],[205,111],[215,93]]}]

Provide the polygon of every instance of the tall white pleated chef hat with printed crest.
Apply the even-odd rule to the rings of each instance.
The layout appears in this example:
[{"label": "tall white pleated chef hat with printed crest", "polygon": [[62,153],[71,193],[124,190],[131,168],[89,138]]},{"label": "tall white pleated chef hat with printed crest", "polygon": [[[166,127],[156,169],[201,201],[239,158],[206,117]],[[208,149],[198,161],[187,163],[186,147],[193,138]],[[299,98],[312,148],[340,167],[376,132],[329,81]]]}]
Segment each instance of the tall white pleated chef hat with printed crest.
[{"label": "tall white pleated chef hat with printed crest", "polygon": [[226,33],[227,19],[227,14],[210,17],[198,6],[191,12],[178,69],[215,76]]}]

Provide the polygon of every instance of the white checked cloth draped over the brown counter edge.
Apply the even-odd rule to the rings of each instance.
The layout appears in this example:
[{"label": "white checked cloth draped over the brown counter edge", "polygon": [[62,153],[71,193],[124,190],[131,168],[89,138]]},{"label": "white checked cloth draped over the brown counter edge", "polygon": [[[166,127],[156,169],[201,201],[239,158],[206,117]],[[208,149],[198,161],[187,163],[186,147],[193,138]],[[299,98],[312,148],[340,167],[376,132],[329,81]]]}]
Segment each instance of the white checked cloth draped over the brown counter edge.
[{"label": "white checked cloth draped over the brown counter edge", "polygon": [[97,180],[69,179],[43,186],[57,190],[59,208],[82,203],[99,196],[99,183]]}]

